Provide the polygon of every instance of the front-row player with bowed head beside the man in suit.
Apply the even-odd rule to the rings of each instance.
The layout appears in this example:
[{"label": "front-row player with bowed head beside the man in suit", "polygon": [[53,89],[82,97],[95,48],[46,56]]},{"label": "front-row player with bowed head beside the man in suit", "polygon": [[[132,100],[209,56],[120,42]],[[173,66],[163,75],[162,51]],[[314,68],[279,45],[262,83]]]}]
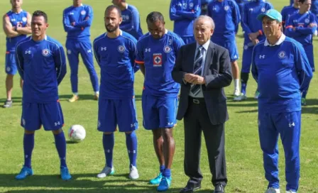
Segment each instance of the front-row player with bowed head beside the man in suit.
[{"label": "front-row player with bowed head beside the man in suit", "polygon": [[163,192],[169,189],[172,180],[170,169],[175,153],[172,128],[177,123],[177,94],[180,89],[171,72],[177,52],[185,43],[179,35],[165,29],[162,13],[149,13],[146,22],[149,33],[138,40],[136,63],[145,76],[143,127],[153,131],[153,145],[160,164],[160,173],[150,180],[150,184],[159,184],[158,191]]}]

